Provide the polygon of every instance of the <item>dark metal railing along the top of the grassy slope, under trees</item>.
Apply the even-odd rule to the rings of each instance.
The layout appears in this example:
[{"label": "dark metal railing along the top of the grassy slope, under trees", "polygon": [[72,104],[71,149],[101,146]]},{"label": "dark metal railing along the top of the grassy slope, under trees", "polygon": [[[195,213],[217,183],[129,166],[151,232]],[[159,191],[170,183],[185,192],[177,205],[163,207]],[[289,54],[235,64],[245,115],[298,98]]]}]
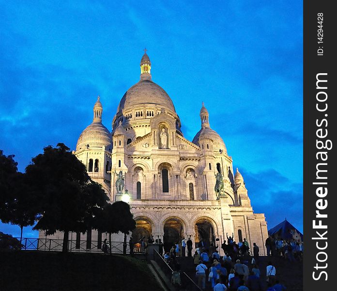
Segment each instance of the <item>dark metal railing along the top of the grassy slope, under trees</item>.
[{"label": "dark metal railing along the top of the grassy slope, under trees", "polygon": [[[20,241],[20,238],[15,238]],[[21,244],[23,250],[40,251],[62,251],[63,240],[47,238],[22,238]],[[111,242],[111,253],[123,253],[123,242]],[[70,252],[102,252],[101,241],[77,241],[68,240],[68,251]],[[130,246],[126,244],[126,253],[130,253]],[[134,253],[140,253],[138,247],[134,247]]]}]

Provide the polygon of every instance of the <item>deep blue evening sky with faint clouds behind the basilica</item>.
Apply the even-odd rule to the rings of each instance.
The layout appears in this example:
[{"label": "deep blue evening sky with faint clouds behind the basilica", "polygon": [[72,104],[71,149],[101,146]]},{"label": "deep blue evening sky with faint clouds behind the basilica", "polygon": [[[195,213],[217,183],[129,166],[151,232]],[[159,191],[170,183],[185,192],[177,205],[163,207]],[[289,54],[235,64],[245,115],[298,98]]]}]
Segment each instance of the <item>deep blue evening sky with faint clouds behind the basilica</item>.
[{"label": "deep blue evening sky with faint clouds behind the basilica", "polygon": [[20,171],[44,146],[75,149],[97,95],[111,129],[146,47],[185,138],[200,129],[204,101],[254,211],[268,229],[286,217],[303,231],[302,9],[291,0],[0,0],[0,149]]}]

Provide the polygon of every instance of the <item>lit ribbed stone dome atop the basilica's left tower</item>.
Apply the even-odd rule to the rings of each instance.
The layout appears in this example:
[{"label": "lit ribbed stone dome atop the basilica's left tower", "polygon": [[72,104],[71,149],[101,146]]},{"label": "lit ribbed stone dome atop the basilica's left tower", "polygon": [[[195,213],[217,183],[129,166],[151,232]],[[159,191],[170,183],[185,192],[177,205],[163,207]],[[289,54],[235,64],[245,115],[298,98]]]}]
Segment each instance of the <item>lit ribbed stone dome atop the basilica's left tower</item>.
[{"label": "lit ribbed stone dome atop the basilica's left tower", "polygon": [[79,136],[76,150],[87,148],[87,145],[106,148],[107,146],[111,146],[111,144],[112,140],[109,130],[102,123],[93,122]]}]

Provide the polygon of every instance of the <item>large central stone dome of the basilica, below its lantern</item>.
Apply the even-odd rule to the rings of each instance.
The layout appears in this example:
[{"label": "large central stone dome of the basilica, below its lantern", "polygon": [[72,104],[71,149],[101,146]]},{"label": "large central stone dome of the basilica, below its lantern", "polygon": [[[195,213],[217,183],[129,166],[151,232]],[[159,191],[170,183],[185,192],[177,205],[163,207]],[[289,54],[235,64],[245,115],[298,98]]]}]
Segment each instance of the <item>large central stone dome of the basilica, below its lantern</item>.
[{"label": "large central stone dome of the basilica, below its lantern", "polygon": [[171,98],[165,90],[151,80],[140,80],[127,90],[117,112],[135,108],[142,104],[155,104],[175,113]]}]

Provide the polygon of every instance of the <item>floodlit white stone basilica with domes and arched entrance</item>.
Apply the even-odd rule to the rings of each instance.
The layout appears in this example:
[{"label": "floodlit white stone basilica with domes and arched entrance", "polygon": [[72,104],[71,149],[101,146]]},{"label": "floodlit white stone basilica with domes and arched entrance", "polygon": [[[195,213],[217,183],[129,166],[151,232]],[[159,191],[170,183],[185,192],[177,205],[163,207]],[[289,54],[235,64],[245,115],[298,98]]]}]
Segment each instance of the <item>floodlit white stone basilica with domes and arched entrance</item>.
[{"label": "floodlit white stone basilica with domes and arched entrance", "polygon": [[[74,154],[111,202],[130,196],[137,223],[134,241],[153,236],[168,249],[190,238],[195,248],[201,241],[221,245],[233,235],[234,241],[245,238],[251,247],[256,242],[265,255],[265,216],[254,213],[243,176],[233,169],[224,141],[211,128],[212,114],[202,103],[200,130],[187,140],[171,98],[152,81],[146,52],[140,80],[122,97],[112,131],[102,124],[102,114],[98,97],[92,123],[79,136]],[[101,236],[92,231],[90,240]]]}]

